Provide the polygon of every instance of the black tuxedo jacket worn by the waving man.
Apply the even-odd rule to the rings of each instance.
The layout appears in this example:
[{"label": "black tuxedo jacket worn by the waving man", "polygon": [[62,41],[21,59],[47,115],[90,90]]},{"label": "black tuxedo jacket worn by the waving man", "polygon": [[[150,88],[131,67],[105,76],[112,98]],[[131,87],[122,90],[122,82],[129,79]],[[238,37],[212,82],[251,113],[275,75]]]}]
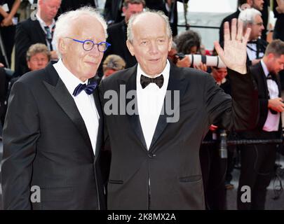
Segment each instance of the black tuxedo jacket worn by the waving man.
[{"label": "black tuxedo jacket worn by the waving man", "polygon": [[[136,72],[134,66],[102,80],[104,106],[107,90],[120,92],[120,85],[126,93],[136,90]],[[149,151],[138,115],[104,114],[111,147],[108,209],[205,209],[199,148],[210,125],[245,130],[257,121],[252,77],[229,73],[233,99],[208,73],[171,65],[168,90],[180,91],[180,119],[167,123],[160,116]],[[171,100],[173,106],[173,95]]]}]

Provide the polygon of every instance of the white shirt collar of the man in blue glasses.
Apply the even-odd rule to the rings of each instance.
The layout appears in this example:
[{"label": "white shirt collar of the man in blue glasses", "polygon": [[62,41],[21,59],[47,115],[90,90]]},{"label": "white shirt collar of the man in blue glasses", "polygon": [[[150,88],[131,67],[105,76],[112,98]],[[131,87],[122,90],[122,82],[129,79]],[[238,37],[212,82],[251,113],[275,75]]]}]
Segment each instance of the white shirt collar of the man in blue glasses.
[{"label": "white shirt collar of the man in blue glasses", "polygon": [[62,82],[67,87],[67,90],[70,94],[73,94],[75,88],[81,84],[88,84],[88,80],[82,82],[77,78],[67,67],[63,64],[62,59],[55,64],[53,64],[55,70],[58,72],[58,76],[61,78]]}]

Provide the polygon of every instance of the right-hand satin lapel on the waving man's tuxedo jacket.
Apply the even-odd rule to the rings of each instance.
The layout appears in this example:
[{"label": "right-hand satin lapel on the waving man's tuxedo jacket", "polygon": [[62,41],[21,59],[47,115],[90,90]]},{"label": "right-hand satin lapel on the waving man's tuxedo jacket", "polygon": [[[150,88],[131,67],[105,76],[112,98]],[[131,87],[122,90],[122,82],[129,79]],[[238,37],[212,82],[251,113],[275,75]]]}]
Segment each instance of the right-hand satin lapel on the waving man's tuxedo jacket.
[{"label": "right-hand satin lapel on the waving man's tuxedo jacket", "polygon": [[[171,64],[170,67],[171,67],[170,77],[169,77],[169,80],[168,80],[168,88],[167,88],[166,95],[168,94],[168,96],[169,96],[169,94],[170,94],[170,105],[168,105],[168,106],[171,106],[171,108],[173,109],[173,106],[175,105],[174,104],[174,102],[175,102],[174,92],[178,91],[180,93],[180,102],[181,102],[182,97],[184,95],[184,91],[185,91],[185,82],[183,81],[183,79],[178,78],[177,74],[178,74],[179,71],[177,71],[177,67],[173,66],[173,64]],[[156,126],[156,130],[154,132],[153,139],[151,141],[151,146],[149,148],[149,151],[151,151],[153,149],[158,138],[161,136],[161,134],[165,130],[165,127],[167,127],[167,125],[168,125],[167,118],[170,119],[171,117],[173,117],[173,115],[168,116],[166,114],[165,106],[167,106],[167,104],[165,104],[165,99],[164,99],[161,115],[158,118],[158,123],[157,123],[157,126]],[[180,106],[178,106],[175,109],[175,113],[180,113]]]}]

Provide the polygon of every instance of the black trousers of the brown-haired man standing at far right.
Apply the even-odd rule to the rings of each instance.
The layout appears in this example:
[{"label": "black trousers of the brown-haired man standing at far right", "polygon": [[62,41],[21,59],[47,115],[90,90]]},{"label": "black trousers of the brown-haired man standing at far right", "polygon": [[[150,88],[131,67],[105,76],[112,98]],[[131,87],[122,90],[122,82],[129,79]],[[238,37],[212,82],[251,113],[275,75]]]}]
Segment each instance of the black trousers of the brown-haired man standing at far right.
[{"label": "black trousers of the brown-haired man standing at far right", "polygon": [[[240,134],[242,135],[242,134]],[[277,139],[278,132],[257,132],[257,139]],[[244,134],[247,139],[255,139]],[[244,137],[243,136],[243,137]],[[276,144],[241,146],[241,175],[238,183],[237,207],[239,210],[264,210],[266,188],[273,176],[276,160]],[[243,186],[250,187],[250,202],[242,202]]]}]

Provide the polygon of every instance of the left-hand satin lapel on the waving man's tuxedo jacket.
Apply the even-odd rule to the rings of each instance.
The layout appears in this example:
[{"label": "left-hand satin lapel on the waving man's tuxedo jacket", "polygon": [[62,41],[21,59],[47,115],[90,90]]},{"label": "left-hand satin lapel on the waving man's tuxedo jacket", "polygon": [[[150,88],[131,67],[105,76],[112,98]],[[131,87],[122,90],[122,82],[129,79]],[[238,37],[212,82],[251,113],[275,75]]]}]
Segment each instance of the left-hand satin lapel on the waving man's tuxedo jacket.
[{"label": "left-hand satin lapel on the waving man's tuxedo jacket", "polygon": [[[136,87],[136,73],[137,73],[137,66],[134,66],[132,69],[128,70],[128,74],[127,76],[129,77],[128,80],[119,80],[119,87],[121,85],[126,85],[126,94],[130,91],[130,90],[134,90],[135,91],[135,106],[137,106],[137,87]],[[126,99],[126,105],[128,105],[128,103],[133,100],[133,99]],[[144,139],[144,134],[142,132],[142,127],[140,124],[140,118],[138,115],[138,109],[135,109],[136,112],[133,115],[129,115],[126,112],[126,116],[128,117],[128,121],[130,123],[130,126],[133,128],[133,131],[135,132],[137,138],[139,139],[140,143],[142,144],[143,148],[145,151],[147,150],[147,145],[146,145],[146,141]]]}]

